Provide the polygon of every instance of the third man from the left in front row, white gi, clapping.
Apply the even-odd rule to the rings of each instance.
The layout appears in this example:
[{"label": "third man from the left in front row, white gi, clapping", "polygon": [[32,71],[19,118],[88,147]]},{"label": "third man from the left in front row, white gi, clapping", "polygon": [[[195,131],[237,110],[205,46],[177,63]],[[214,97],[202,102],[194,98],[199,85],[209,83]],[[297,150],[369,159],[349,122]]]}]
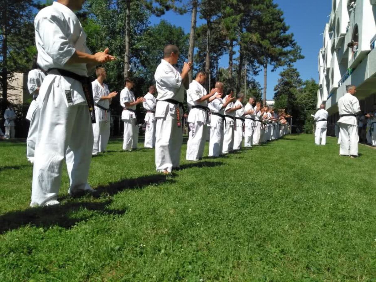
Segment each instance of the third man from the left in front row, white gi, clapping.
[{"label": "third man from the left in front row, white gi, clapping", "polygon": [[205,71],[199,71],[196,79],[190,83],[187,90],[187,103],[191,110],[188,114],[188,126],[190,127],[186,160],[199,161],[202,159],[206,143],[207,124],[209,124],[208,100],[215,97],[217,88],[213,88],[209,94],[203,85],[206,82]]}]

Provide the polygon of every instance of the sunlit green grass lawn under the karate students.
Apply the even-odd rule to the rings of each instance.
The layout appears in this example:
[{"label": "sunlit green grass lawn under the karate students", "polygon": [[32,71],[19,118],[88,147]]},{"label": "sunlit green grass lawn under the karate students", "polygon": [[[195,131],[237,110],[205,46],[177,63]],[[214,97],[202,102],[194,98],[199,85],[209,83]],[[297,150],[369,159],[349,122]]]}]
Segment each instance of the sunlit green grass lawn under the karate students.
[{"label": "sunlit green grass lawn under the karate students", "polygon": [[[25,143],[0,143],[0,281],[376,280],[376,151],[290,135],[156,173],[154,150],[92,159],[102,192],[30,209]],[[139,144],[143,147],[143,144]],[[206,146],[206,155],[208,146]]]}]

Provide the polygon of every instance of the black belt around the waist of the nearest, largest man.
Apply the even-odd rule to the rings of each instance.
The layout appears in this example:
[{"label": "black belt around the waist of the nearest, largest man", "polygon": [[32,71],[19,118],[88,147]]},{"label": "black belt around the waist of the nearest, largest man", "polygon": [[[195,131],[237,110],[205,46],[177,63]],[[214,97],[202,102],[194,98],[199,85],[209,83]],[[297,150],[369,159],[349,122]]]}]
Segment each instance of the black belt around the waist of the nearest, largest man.
[{"label": "black belt around the waist of the nearest, largest man", "polygon": [[71,71],[62,70],[60,68],[50,68],[47,70],[47,74],[55,74],[58,76],[70,77],[74,80],[79,81],[82,84],[83,93],[85,94],[86,103],[88,103],[89,113],[91,117],[91,123],[96,123],[95,112],[94,112],[94,98],[93,98],[93,89],[91,81],[87,76],[80,76]]}]

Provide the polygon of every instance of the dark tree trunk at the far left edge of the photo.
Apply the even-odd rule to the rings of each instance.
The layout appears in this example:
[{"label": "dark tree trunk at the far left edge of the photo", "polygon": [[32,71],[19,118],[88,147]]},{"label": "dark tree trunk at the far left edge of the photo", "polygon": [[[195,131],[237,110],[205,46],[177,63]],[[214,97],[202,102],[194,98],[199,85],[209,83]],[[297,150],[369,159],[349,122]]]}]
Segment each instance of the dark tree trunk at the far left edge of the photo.
[{"label": "dark tree trunk at the far left edge of the photo", "polygon": [[2,69],[2,91],[3,91],[3,112],[5,111],[8,103],[8,62],[7,62],[7,50],[8,50],[8,37],[7,37],[7,14],[8,14],[8,1],[3,2],[3,22],[2,22],[2,32],[3,32],[3,47],[2,47],[2,56],[3,56],[3,69]]}]

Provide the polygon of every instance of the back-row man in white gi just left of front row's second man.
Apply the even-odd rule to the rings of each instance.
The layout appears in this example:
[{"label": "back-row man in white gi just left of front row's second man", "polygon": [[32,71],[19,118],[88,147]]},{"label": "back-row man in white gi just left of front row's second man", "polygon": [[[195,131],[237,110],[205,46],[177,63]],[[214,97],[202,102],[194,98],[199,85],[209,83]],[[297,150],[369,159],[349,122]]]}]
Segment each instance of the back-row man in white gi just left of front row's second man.
[{"label": "back-row man in white gi just left of front row's second man", "polygon": [[154,97],[156,88],[154,85],[149,87],[149,92],[144,96],[145,102],[143,106],[146,109],[145,122],[145,148],[154,148],[155,147],[155,109],[157,106],[157,99]]}]

